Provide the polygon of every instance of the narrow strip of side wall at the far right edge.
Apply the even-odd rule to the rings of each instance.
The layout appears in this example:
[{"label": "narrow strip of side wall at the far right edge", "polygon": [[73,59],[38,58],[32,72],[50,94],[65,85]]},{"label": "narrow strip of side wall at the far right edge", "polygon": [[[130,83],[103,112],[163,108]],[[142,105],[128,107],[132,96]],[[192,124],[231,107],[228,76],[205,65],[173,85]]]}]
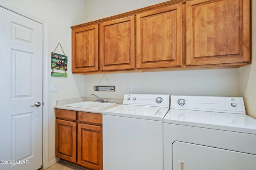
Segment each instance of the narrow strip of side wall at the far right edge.
[{"label": "narrow strip of side wall at the far right edge", "polygon": [[252,64],[241,67],[239,95],[244,97],[246,112],[256,119],[256,1],[252,0]]}]

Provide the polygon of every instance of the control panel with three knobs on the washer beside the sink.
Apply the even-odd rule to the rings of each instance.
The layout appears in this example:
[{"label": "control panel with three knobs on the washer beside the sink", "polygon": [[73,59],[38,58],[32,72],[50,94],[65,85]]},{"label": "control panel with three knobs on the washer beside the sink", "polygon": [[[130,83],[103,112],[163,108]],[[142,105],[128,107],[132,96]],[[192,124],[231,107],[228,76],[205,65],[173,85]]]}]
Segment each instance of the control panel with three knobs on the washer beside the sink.
[{"label": "control panel with three knobs on the washer beside the sink", "polygon": [[123,104],[170,107],[169,94],[124,94]]}]

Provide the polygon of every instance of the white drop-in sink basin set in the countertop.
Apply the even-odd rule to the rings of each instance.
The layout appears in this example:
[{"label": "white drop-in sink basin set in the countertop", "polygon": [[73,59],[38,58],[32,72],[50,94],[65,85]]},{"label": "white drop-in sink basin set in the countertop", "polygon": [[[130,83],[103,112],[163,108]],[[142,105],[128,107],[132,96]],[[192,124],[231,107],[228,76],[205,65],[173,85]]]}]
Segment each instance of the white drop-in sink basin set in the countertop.
[{"label": "white drop-in sink basin set in the countertop", "polygon": [[63,106],[69,106],[69,107],[80,107],[85,109],[101,109],[103,107],[111,106],[116,103],[100,103],[100,102],[79,102],[79,103],[72,103],[72,104],[65,104]]}]

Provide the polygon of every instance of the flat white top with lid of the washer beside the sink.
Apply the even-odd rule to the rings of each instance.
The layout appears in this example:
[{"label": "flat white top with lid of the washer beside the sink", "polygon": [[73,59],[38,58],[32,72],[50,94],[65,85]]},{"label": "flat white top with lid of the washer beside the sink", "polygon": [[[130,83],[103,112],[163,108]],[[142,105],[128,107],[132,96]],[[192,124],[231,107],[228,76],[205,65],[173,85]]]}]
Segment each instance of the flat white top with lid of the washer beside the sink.
[{"label": "flat white top with lid of the washer beside the sink", "polygon": [[169,108],[167,107],[122,105],[103,111],[102,114],[163,121],[168,110]]}]

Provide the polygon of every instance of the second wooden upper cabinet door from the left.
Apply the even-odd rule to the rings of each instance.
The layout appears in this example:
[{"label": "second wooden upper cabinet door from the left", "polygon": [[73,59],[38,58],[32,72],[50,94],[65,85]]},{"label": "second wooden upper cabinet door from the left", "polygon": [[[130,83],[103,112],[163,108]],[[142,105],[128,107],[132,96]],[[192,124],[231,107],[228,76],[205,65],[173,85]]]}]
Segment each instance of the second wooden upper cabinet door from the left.
[{"label": "second wooden upper cabinet door from the left", "polygon": [[134,16],[100,23],[100,70],[135,68]]}]

